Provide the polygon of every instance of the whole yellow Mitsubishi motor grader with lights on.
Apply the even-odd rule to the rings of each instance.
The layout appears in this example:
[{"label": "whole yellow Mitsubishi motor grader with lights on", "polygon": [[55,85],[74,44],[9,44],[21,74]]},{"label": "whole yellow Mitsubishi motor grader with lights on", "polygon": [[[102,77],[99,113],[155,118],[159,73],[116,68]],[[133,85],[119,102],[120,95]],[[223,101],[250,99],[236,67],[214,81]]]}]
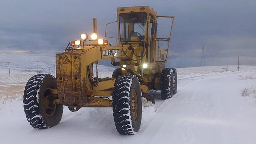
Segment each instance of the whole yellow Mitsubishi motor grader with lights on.
[{"label": "whole yellow Mitsubishi motor grader with lights on", "polygon": [[[167,38],[158,38],[157,28],[163,26],[158,24],[159,18],[171,19],[169,30],[164,31],[169,31]],[[117,131],[131,135],[140,129],[143,96],[154,103],[150,90],[160,90],[162,99],[176,93],[176,70],[165,68],[174,16],[158,15],[149,6],[122,7],[117,8],[115,22],[117,45],[98,36],[97,19],[93,18],[90,40],[83,33],[82,40],[72,41],[63,53],[56,54],[56,78],[38,74],[29,79],[24,111],[32,127],[57,125],[64,105],[71,112],[82,107],[112,107]],[[99,78],[98,61],[107,59],[120,68],[112,78]]]}]

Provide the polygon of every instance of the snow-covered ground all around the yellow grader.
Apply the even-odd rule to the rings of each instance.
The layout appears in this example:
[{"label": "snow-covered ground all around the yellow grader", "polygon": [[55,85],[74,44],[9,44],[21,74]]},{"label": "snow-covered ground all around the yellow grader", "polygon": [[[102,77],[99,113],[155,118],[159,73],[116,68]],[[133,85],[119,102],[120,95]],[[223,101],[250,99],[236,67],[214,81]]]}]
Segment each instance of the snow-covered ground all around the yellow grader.
[{"label": "snow-covered ground all around the yellow grader", "polygon": [[[3,61],[18,61],[20,54],[0,56],[0,143],[164,143],[164,144],[255,144],[256,143],[256,66],[208,66],[178,69],[178,93],[161,100],[152,92],[155,106],[143,108],[142,125],[136,135],[116,132],[111,108],[64,108],[59,125],[46,130],[33,129],[26,120],[22,96],[27,80],[37,74],[12,67],[11,77]],[[40,65],[54,65],[54,57],[32,57]],[[45,61],[43,61],[45,60]],[[18,67],[20,65],[17,65]],[[32,66],[31,66],[32,65]],[[54,67],[54,66],[53,66]],[[25,68],[29,69],[29,68]],[[110,77],[113,68],[99,66],[99,73]],[[47,71],[45,71],[47,72]]]}]

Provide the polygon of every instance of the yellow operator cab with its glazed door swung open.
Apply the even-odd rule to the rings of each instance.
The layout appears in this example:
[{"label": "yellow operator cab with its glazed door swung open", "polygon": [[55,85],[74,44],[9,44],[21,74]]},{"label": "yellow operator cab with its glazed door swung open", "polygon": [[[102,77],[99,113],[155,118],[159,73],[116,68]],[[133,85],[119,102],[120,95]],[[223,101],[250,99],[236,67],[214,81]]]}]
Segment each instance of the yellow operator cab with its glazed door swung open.
[{"label": "yellow operator cab with its glazed door swung open", "polygon": [[[167,62],[174,16],[158,15],[150,6],[117,8],[117,21],[106,24],[105,36],[116,45],[142,49],[141,61]],[[118,36],[107,35],[107,25],[117,22]]]}]

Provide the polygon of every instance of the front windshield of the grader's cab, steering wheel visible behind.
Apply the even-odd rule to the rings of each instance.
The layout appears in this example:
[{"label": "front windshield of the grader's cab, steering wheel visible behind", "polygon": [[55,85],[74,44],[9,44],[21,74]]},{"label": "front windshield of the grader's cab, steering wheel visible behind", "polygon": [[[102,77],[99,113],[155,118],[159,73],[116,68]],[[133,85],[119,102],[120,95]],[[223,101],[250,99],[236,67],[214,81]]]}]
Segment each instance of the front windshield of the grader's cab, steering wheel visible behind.
[{"label": "front windshield of the grader's cab, steering wheel visible behind", "polygon": [[138,42],[145,38],[146,13],[119,14],[120,40]]}]

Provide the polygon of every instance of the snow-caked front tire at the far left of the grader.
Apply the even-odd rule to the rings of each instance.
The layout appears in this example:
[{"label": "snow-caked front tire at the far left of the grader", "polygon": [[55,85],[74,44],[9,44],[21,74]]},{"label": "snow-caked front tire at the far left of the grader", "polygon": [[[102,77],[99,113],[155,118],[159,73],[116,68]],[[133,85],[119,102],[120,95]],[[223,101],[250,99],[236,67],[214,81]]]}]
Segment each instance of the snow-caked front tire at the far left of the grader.
[{"label": "snow-caked front tire at the far left of the grader", "polygon": [[63,114],[63,105],[46,108],[44,100],[49,89],[57,88],[56,78],[50,74],[38,74],[29,79],[24,91],[24,112],[27,121],[35,129],[45,129],[57,125]]}]

